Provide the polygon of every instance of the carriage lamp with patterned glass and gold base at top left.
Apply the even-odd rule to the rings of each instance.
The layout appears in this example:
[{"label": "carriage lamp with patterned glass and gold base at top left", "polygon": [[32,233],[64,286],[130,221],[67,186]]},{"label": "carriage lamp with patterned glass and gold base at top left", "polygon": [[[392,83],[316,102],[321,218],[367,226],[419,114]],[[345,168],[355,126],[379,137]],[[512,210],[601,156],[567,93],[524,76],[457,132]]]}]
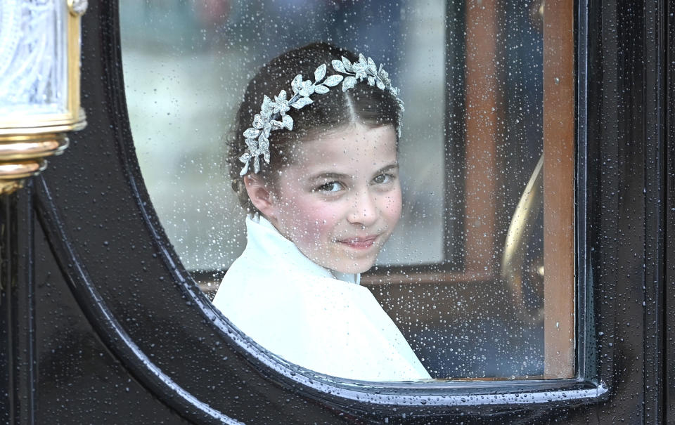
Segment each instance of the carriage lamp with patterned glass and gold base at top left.
[{"label": "carriage lamp with patterned glass and gold base at top left", "polygon": [[0,195],[23,187],[84,129],[80,17],[86,0],[0,1]]}]

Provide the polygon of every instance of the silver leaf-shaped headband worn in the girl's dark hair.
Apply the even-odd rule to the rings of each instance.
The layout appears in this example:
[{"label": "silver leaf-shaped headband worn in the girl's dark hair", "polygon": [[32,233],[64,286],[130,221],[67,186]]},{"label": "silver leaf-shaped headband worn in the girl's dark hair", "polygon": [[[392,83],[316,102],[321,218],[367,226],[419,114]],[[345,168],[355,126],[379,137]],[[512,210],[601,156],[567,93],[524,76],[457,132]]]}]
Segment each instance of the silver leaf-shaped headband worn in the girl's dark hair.
[{"label": "silver leaf-shaped headband worn in the girl's dark hair", "polygon": [[[280,91],[278,96],[274,96],[274,102],[264,96],[260,113],[253,118],[253,126],[244,131],[248,149],[239,157],[239,160],[244,163],[239,173],[240,176],[248,173],[251,159],[253,159],[254,173],[260,171],[261,156],[269,164],[269,133],[281,129],[293,130],[293,118],[286,115],[290,107],[295,107],[295,109],[305,107],[313,103],[309,96],[314,93],[328,93],[329,87],[337,86],[340,82],[342,82],[342,91],[347,91],[352,89],[357,82],[366,79],[369,86],[378,86],[378,89],[392,93],[399,103],[399,113],[403,112],[403,101],[399,98],[399,89],[392,86],[389,74],[382,69],[382,65],[378,69],[371,58],[366,59],[361,54],[359,54],[358,62],[351,63],[343,56],[342,60],[333,60],[331,64],[333,70],[339,74],[326,77],[326,64],[324,63],[314,71],[314,83],[309,79],[302,81],[302,75],[297,74],[290,82],[293,97],[289,100],[286,100],[285,90]],[[400,126],[397,130],[400,132]]]}]

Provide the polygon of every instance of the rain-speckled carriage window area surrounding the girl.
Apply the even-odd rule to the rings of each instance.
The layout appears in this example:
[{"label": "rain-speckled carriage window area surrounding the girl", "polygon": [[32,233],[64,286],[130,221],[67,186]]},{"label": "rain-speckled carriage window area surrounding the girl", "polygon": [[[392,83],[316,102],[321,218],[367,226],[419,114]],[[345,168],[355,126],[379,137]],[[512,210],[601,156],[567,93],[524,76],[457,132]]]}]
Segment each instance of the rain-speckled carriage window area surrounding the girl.
[{"label": "rain-speckled carriage window area surrounding the girl", "polygon": [[248,81],[327,41],[381,63],[405,103],[400,219],[356,270],[402,344],[433,379],[574,376],[571,0],[122,0],[120,15],[143,178],[207,296],[247,243],[225,158]]}]

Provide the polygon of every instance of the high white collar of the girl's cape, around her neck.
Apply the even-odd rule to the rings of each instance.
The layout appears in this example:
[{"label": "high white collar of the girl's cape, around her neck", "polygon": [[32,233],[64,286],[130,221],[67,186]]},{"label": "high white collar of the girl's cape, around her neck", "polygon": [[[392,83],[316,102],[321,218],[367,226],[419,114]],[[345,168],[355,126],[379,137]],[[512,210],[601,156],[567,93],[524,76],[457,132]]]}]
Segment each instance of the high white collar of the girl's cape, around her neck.
[{"label": "high white collar of the girl's cape, around her neck", "polygon": [[245,255],[255,255],[257,261],[283,261],[285,266],[302,270],[302,273],[330,277],[347,283],[361,283],[360,273],[341,273],[319,266],[308,259],[295,244],[279,233],[263,216],[246,216],[247,242]]}]

